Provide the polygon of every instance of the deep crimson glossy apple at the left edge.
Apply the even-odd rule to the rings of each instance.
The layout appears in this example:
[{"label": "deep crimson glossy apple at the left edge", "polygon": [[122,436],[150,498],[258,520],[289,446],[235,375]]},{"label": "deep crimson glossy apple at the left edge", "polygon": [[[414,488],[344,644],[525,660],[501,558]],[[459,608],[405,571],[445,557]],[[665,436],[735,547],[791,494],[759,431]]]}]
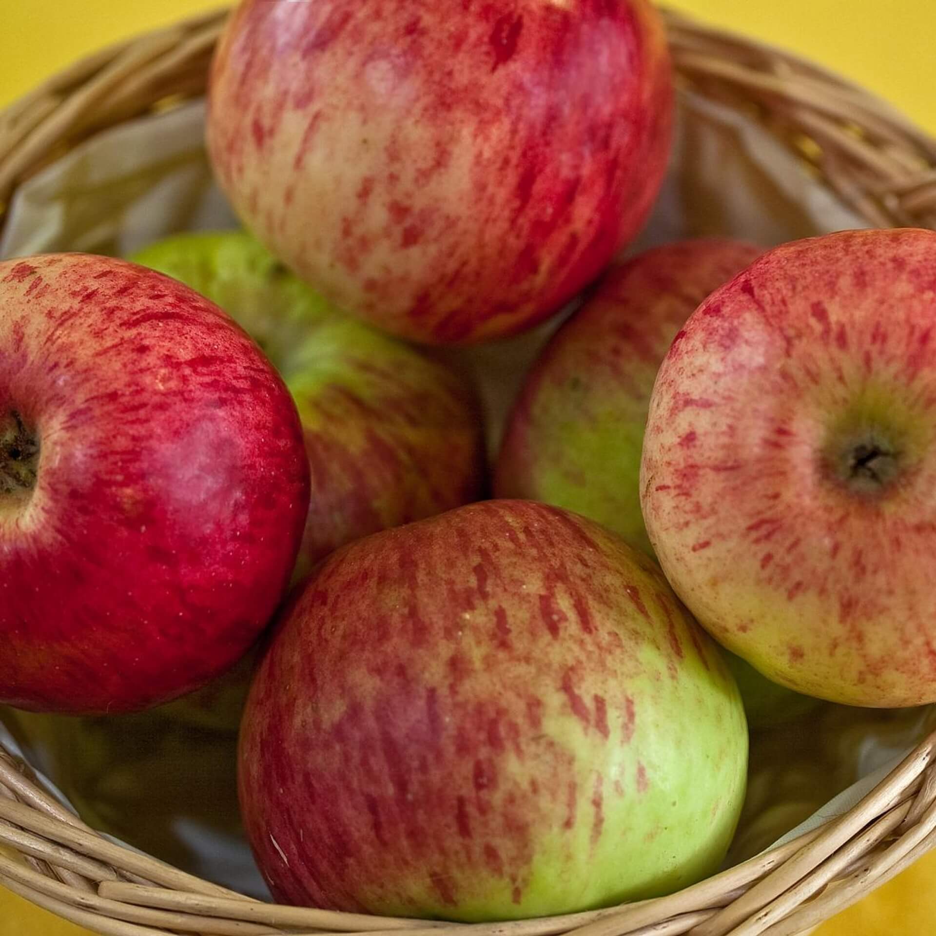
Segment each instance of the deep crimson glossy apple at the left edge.
[{"label": "deep crimson glossy apple at the left edge", "polygon": [[0,263],[0,700],[129,711],[220,675],[308,499],[296,407],[221,310],[123,260]]}]

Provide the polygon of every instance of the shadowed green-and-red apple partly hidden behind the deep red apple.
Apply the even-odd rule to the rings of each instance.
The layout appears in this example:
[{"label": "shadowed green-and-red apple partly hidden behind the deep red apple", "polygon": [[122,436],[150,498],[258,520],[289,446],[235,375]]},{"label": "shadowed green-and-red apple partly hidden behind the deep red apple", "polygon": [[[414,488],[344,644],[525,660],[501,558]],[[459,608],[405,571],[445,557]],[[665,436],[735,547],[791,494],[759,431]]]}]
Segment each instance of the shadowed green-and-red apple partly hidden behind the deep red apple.
[{"label": "shadowed green-and-red apple partly hidden behind the deep red apple", "polygon": [[481,496],[481,418],[455,370],[339,313],[243,231],[175,235],[133,259],[221,306],[292,392],[312,471],[295,578],[352,539]]}]

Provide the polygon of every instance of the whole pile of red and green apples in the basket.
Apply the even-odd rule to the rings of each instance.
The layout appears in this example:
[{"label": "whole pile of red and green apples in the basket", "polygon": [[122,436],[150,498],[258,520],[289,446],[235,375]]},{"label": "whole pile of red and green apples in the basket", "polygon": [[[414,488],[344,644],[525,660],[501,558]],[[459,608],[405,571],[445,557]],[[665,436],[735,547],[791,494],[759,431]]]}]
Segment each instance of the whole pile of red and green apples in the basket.
[{"label": "whole pile of red and green apples in the basket", "polygon": [[[646,0],[244,0],[209,103],[252,233],[0,263],[0,701],[256,652],[273,895],[456,920],[716,870],[745,706],[936,701],[936,233],[616,259]],[[439,346],[577,297],[486,452]]]}]

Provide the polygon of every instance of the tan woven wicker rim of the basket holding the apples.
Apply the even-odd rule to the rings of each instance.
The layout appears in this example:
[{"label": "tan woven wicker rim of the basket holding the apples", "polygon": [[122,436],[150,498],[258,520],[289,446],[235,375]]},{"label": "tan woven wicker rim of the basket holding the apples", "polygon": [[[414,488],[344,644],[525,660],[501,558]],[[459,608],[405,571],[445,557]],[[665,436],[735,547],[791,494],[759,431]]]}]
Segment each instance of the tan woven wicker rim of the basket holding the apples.
[{"label": "tan woven wicker rim of the basket holding the apples", "polygon": [[[781,51],[666,13],[680,81],[752,115],[876,227],[936,228],[936,140]],[[114,124],[202,95],[223,12],[98,52],[0,113],[0,226],[16,187]],[[477,936],[793,936],[936,846],[936,734],[854,809],[669,897],[469,927]],[[82,824],[0,746],[0,885],[113,936],[393,932],[464,925],[279,907],[142,856]]]}]

